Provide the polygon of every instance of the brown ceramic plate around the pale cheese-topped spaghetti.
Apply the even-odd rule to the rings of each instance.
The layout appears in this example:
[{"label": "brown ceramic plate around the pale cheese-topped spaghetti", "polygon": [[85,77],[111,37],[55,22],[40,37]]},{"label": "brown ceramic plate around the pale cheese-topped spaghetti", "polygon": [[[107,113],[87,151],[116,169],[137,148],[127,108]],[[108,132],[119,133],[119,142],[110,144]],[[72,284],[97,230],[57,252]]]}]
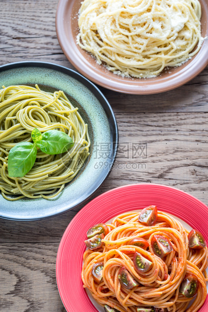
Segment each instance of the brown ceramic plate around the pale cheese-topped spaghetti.
[{"label": "brown ceramic plate around the pale cheese-topped spaghetti", "polygon": [[[110,72],[76,44],[78,11],[82,0],[59,0],[56,12],[56,32],[60,46],[68,60],[85,77],[94,83],[118,92],[129,94],[154,94],[184,85],[208,64],[208,40],[200,51],[185,64],[164,70],[155,78],[137,79],[121,77]],[[199,0],[202,7],[202,37],[208,37],[208,2]]]}]

